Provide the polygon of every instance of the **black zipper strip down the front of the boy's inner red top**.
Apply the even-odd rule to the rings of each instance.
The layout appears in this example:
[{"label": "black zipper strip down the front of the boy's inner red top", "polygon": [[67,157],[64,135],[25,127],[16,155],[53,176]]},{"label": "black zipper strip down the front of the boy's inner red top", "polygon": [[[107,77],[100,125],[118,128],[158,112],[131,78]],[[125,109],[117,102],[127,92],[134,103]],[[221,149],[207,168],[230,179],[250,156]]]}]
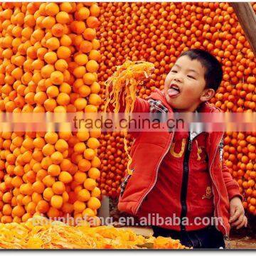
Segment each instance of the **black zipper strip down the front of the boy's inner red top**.
[{"label": "black zipper strip down the front of the boy's inner red top", "polygon": [[188,192],[188,174],[189,174],[189,156],[192,150],[192,141],[190,138],[190,132],[188,132],[188,144],[186,146],[186,151],[183,160],[183,176],[181,183],[181,231],[186,231],[185,225],[183,225],[183,218],[187,214],[186,196]]}]

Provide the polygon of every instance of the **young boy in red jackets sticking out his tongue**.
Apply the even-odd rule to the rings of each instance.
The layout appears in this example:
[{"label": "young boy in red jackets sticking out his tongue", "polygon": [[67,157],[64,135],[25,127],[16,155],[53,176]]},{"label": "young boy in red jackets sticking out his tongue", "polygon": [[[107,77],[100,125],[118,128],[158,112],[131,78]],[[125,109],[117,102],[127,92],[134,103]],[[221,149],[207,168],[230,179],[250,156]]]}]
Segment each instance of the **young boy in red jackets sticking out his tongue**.
[{"label": "young boy in red jackets sticking out his tongue", "polygon": [[[167,75],[164,91],[155,90],[149,100],[137,97],[134,112],[220,112],[208,101],[222,77],[213,55],[188,50]],[[122,183],[119,210],[149,219],[186,218],[178,225],[154,224],[154,236],[194,248],[225,247],[230,224],[241,228],[247,218],[238,183],[222,161],[222,139],[223,132],[141,132],[131,149],[133,174]],[[212,217],[222,221],[200,222]]]}]

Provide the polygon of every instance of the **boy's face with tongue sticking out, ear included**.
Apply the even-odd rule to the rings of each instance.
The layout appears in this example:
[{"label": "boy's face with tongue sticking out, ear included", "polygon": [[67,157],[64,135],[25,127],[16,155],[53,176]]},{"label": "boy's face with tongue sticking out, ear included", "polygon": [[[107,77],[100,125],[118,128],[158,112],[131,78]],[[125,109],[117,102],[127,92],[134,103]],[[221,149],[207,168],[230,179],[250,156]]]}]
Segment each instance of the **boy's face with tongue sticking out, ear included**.
[{"label": "boy's face with tongue sticking out, ear included", "polygon": [[213,97],[214,90],[205,89],[205,72],[198,60],[178,58],[164,82],[166,101],[174,110],[193,112],[201,102]]}]

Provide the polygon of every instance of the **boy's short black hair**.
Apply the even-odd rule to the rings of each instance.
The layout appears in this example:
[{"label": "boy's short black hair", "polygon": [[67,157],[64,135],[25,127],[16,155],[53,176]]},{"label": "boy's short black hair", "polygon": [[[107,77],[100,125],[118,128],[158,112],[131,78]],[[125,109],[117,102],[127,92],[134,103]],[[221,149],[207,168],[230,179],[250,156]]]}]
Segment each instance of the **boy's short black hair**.
[{"label": "boy's short black hair", "polygon": [[218,90],[223,79],[223,69],[221,63],[206,50],[193,49],[187,50],[178,57],[188,56],[191,60],[198,60],[206,68],[205,80],[206,88]]}]

